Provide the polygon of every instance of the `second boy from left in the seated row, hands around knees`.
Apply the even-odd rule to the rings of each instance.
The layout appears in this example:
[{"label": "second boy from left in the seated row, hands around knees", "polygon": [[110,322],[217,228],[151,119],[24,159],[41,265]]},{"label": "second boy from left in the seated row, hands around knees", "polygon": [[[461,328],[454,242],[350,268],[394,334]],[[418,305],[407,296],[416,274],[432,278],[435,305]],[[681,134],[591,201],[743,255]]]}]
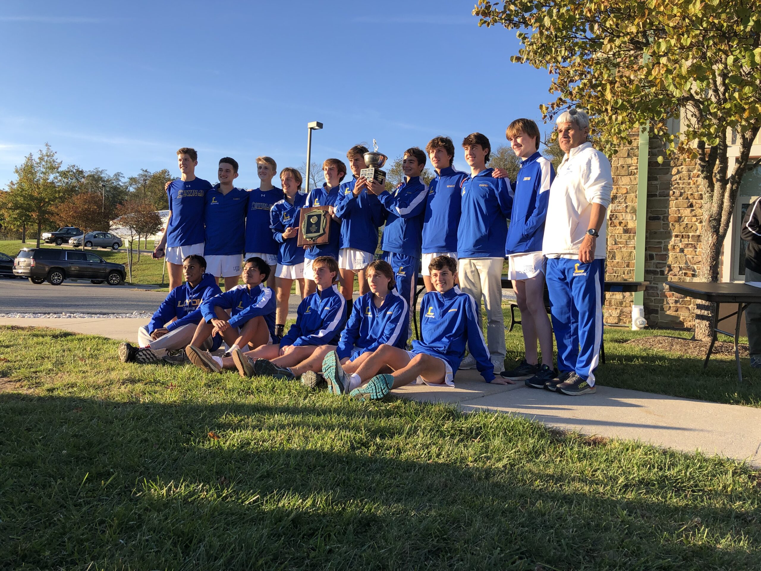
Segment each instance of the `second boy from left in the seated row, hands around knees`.
[{"label": "second boy from left in the seated row, hands around knees", "polygon": [[[246,260],[240,278],[244,285],[216,295],[201,304],[203,320],[185,352],[193,362],[212,361],[201,342],[209,335],[221,335],[230,350],[251,345],[256,348],[272,343],[275,330],[275,295],[263,282],[269,277],[269,264],[261,258]],[[231,310],[228,317],[226,310]]]}]

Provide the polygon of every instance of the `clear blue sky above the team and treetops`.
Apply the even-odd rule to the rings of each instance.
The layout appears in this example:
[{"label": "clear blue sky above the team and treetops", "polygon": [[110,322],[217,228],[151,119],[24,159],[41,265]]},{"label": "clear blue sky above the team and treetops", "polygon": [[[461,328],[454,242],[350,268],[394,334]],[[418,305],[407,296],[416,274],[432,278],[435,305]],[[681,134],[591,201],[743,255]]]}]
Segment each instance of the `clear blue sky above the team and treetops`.
[{"label": "clear blue sky above the team and treetops", "polygon": [[257,155],[304,162],[314,120],[313,161],[473,131],[497,147],[511,120],[540,121],[550,79],[511,63],[514,31],[479,28],[473,4],[5,0],[0,187],[45,142],[64,164],[127,176],[179,174],[175,151],[192,146],[199,176],[215,182],[229,155],[255,187]]}]

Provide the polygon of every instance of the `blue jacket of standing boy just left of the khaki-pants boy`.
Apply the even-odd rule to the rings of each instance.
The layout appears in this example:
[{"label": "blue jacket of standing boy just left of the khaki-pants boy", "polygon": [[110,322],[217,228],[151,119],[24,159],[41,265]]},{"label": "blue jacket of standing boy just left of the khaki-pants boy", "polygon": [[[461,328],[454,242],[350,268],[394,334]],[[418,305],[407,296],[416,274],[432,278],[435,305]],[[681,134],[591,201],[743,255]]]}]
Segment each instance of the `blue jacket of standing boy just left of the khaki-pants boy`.
[{"label": "blue jacket of standing boy just left of the khaki-pants boy", "polygon": [[423,217],[423,254],[457,251],[457,232],[453,229],[460,224],[460,193],[467,176],[452,167],[442,168],[428,185]]}]

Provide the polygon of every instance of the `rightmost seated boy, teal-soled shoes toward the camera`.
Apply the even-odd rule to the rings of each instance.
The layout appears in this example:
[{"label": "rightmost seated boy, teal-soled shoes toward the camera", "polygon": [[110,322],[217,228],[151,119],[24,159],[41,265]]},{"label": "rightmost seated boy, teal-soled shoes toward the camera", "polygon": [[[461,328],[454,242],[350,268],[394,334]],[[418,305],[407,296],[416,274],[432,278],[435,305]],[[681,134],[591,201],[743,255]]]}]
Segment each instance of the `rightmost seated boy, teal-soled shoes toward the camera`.
[{"label": "rightmost seated boy, teal-soled shoes toward the camera", "polygon": [[351,375],[342,367],[336,352],[328,353],[323,361],[323,375],[333,394],[349,393],[359,400],[369,400],[383,398],[392,389],[410,383],[454,386],[454,372],[463,358],[466,342],[481,376],[488,383],[495,381],[476,303],[454,285],[457,262],[439,256],[428,269],[436,291],[423,296],[421,340],[412,341],[409,352],[381,345],[374,352],[364,353],[355,359],[358,367]]}]

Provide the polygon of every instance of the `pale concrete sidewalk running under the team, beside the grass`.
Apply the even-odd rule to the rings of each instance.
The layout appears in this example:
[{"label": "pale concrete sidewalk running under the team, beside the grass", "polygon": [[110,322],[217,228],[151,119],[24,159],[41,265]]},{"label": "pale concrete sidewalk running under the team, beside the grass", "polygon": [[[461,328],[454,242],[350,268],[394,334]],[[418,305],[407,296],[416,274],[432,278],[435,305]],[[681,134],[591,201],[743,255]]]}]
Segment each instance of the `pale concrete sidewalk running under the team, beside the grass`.
[{"label": "pale concrete sidewalk running under the team, beside the grass", "polygon": [[[0,325],[54,327],[135,343],[144,319],[0,319]],[[539,420],[587,435],[632,439],[675,450],[702,451],[761,466],[761,409],[599,386],[568,397],[519,384],[486,384],[476,371],[458,371],[454,388],[412,385],[393,391],[421,402],[453,404],[465,412],[491,410]]]}]

